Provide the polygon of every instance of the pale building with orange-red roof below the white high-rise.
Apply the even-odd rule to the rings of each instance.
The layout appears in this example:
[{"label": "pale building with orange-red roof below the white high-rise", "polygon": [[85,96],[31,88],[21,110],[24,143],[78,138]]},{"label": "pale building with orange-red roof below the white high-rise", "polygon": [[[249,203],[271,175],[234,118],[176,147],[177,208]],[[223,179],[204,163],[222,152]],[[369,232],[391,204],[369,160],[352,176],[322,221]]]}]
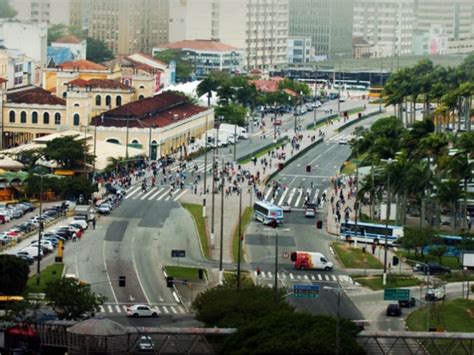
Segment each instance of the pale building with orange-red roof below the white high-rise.
[{"label": "pale building with orange-red roof below the white high-rise", "polygon": [[197,77],[214,71],[239,72],[242,69],[244,52],[238,48],[212,40],[179,41],[153,48],[153,55],[167,50],[182,51],[192,64]]}]

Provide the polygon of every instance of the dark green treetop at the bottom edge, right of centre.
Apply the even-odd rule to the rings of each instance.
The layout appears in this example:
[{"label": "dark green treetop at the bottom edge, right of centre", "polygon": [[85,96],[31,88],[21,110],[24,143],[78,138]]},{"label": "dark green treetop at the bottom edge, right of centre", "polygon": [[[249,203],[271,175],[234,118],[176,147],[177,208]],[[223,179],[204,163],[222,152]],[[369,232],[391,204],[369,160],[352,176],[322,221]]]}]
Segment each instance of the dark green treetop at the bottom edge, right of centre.
[{"label": "dark green treetop at the bottom edge, right of centre", "polygon": [[[328,316],[276,311],[249,319],[224,345],[226,354],[335,354],[336,320]],[[339,353],[365,354],[357,343],[357,326],[339,323]]]}]

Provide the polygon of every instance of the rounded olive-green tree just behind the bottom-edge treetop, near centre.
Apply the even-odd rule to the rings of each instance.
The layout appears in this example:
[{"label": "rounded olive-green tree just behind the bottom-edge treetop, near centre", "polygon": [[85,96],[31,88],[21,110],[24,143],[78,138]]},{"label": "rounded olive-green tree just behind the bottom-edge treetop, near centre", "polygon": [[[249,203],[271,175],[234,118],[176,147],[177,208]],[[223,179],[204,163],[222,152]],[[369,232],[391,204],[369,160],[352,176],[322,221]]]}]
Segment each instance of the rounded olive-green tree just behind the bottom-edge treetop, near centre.
[{"label": "rounded olive-green tree just behind the bottom-edge treetop, near centre", "polygon": [[192,308],[196,319],[207,327],[241,327],[275,310],[291,311],[293,308],[283,296],[284,291],[280,290],[275,304],[270,288],[247,285],[237,291],[233,283],[228,283],[199,294]]}]

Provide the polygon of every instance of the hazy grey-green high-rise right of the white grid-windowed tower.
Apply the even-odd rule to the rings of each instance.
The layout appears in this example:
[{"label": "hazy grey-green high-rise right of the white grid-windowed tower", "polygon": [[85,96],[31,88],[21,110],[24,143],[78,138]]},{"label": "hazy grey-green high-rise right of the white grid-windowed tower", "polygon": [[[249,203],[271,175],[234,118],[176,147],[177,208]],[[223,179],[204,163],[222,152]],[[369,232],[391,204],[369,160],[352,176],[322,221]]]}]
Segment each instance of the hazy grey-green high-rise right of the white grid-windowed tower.
[{"label": "hazy grey-green high-rise right of the white grid-windowed tower", "polygon": [[289,0],[289,34],[311,37],[318,58],[352,55],[353,0]]}]

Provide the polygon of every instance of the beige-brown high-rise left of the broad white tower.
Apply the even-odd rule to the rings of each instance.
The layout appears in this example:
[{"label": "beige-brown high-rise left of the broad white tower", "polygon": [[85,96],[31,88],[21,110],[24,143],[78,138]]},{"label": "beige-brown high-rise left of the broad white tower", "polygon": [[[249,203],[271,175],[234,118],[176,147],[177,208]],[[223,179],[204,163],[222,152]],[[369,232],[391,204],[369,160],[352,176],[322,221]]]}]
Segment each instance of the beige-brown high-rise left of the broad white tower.
[{"label": "beige-brown high-rise left of the broad white tower", "polygon": [[167,0],[93,0],[89,36],[107,44],[114,54],[151,53],[168,42]]}]

